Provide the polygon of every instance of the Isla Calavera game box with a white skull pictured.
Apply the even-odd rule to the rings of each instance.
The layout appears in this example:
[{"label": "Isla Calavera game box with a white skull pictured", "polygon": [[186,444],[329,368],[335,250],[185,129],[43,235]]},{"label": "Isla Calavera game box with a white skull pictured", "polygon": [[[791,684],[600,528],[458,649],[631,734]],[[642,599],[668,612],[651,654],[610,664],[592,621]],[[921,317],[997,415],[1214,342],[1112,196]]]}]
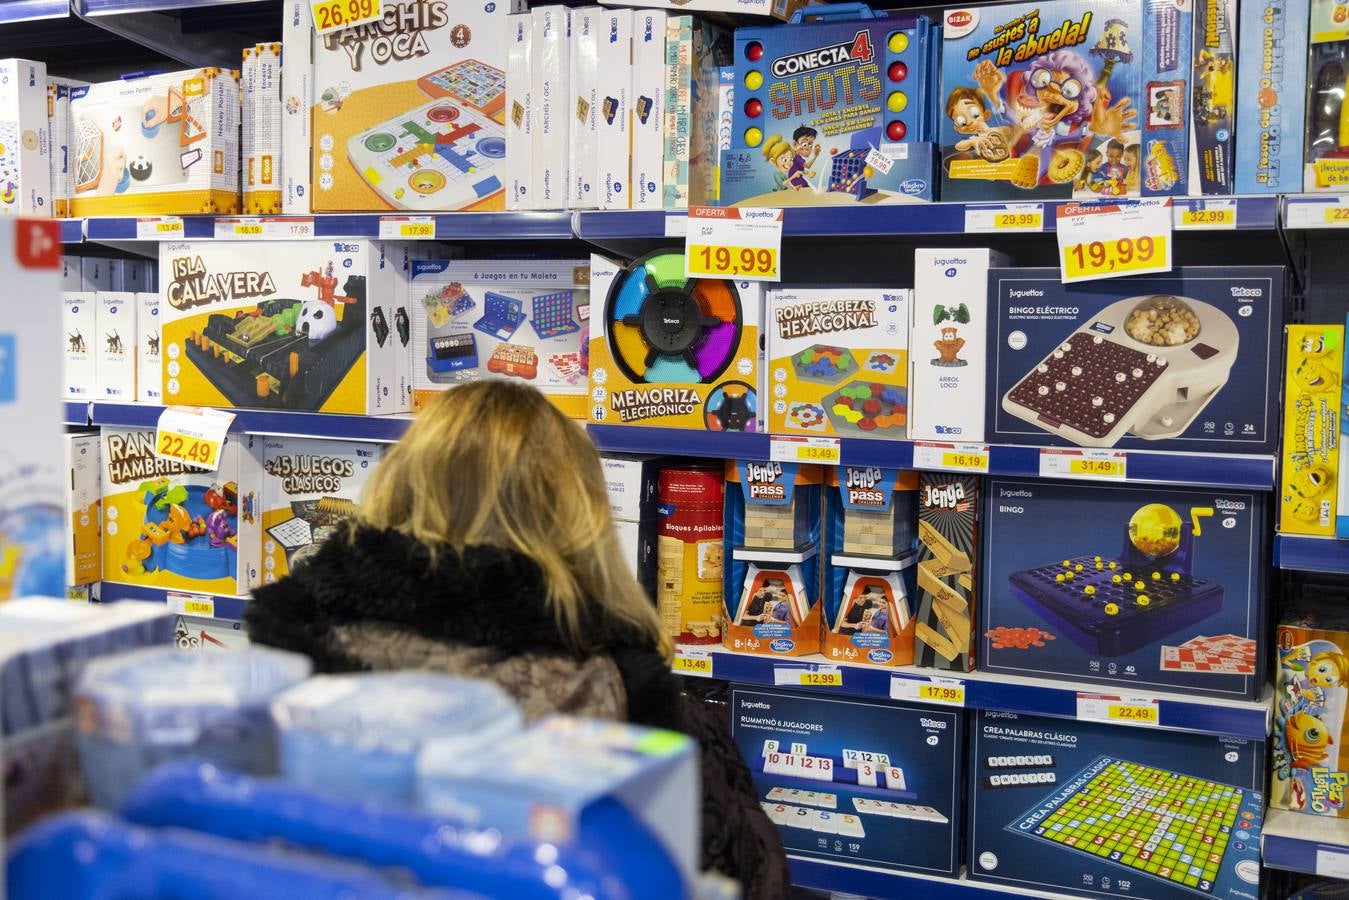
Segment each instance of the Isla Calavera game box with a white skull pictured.
[{"label": "Isla Calavera game box with a white skull pictured", "polygon": [[374,302],[399,289],[384,251],[368,240],[163,244],[165,402],[407,412],[402,344]]}]

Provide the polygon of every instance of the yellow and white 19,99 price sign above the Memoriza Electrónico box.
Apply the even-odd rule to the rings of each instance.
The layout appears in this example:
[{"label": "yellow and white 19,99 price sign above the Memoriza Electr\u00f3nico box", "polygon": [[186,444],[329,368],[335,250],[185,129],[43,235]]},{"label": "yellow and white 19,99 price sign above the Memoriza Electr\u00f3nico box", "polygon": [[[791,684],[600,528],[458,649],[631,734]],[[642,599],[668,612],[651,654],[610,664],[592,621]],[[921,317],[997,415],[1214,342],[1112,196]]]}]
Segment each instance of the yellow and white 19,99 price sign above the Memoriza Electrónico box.
[{"label": "yellow and white 19,99 price sign above the Memoriza Electr\u00f3nico box", "polygon": [[781,281],[782,210],[689,206],[684,275]]}]

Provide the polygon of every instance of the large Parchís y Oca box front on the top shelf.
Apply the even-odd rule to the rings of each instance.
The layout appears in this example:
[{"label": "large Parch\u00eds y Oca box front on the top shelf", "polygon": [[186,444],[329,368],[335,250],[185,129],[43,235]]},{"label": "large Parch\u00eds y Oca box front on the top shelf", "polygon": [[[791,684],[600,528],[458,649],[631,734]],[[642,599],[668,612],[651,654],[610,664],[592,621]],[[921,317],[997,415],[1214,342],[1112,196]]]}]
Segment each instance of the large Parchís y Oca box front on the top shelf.
[{"label": "large Parch\u00eds y Oca box front on the top shelf", "polygon": [[314,212],[505,209],[507,3],[395,0],[314,36]]}]

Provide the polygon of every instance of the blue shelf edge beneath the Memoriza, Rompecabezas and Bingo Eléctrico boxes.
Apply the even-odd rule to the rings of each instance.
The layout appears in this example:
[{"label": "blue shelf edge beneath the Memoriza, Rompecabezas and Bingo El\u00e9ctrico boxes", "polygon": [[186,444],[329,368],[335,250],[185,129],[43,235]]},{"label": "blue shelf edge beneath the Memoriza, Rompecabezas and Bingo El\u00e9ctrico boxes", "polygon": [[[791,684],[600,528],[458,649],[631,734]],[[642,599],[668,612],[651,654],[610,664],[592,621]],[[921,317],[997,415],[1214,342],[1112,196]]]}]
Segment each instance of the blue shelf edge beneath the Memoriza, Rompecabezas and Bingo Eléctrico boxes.
[{"label": "blue shelf edge beneath the Memoriza, Rompecabezas and Bingo El\u00e9ctrico boxes", "polygon": [[[770,437],[739,432],[696,432],[633,425],[590,425],[602,451],[768,459]],[[1039,476],[1040,447],[992,445],[990,475]],[[913,441],[840,439],[842,464],[913,468]],[[1273,457],[1236,453],[1129,451],[1126,479],[1140,484],[1184,484],[1271,490]]]}]

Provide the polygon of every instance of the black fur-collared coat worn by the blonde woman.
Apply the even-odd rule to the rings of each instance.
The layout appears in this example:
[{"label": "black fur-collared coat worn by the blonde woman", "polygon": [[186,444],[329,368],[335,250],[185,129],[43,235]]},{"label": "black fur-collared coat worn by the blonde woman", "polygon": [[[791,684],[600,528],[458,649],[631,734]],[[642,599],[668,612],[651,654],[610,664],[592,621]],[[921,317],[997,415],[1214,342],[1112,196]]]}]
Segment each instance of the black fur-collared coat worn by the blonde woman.
[{"label": "black fur-collared coat worn by the blonde woman", "polygon": [[250,637],[310,656],[317,672],[428,668],[491,677],[526,718],[608,715],[695,737],[704,869],[739,880],[750,900],[788,896],[777,828],[758,804],[724,710],[681,695],[656,648],[602,609],[583,621],[583,652],[569,649],[527,557],[491,546],[460,556],[447,546],[432,561],[398,532],[356,528],[254,596]]}]

